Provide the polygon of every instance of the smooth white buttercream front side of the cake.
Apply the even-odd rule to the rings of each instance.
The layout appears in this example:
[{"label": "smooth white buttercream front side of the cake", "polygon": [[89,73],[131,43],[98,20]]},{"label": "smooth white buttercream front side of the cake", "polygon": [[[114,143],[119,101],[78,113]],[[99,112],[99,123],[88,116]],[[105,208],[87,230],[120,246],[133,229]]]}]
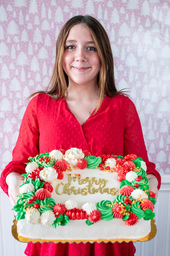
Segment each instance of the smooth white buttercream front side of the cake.
[{"label": "smooth white buttercream front side of the cake", "polygon": [[97,239],[114,239],[114,238],[129,238],[139,239],[150,233],[150,220],[143,219],[129,228],[123,220],[113,219],[111,221],[99,221],[94,225],[87,226],[85,220],[69,221],[67,226],[42,226],[39,223],[30,225],[25,219],[17,223],[18,233],[20,236],[32,239],[63,239],[63,240],[97,240]]}]

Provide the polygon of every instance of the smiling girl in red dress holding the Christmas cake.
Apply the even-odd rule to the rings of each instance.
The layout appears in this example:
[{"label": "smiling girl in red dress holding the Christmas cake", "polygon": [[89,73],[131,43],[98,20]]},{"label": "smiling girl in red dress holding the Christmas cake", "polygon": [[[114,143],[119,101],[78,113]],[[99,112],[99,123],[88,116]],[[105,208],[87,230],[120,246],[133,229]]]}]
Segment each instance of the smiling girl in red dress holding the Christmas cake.
[{"label": "smiling girl in red dress holding the Christmas cake", "polygon": [[[35,96],[34,93],[33,95]],[[31,95],[31,96],[33,96]],[[50,87],[28,104],[13,159],[1,175],[12,204],[29,156],[77,147],[92,155],[136,154],[147,164],[150,189],[158,193],[160,175],[149,162],[133,102],[117,91],[114,62],[106,31],[90,16],[76,16],[63,26],[56,42]],[[29,243],[26,255],[128,255],[130,243]]]}]

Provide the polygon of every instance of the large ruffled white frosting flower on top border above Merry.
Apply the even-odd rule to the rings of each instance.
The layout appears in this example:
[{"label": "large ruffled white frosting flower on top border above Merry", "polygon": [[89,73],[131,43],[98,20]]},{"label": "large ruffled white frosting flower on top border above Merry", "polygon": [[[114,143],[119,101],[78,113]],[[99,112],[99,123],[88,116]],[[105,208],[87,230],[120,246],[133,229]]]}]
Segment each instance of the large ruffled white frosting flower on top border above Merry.
[{"label": "large ruffled white frosting flower on top border above Merry", "polygon": [[63,155],[63,159],[66,160],[68,164],[73,166],[76,166],[78,158],[84,158],[82,149],[70,148],[66,151],[65,155]]}]

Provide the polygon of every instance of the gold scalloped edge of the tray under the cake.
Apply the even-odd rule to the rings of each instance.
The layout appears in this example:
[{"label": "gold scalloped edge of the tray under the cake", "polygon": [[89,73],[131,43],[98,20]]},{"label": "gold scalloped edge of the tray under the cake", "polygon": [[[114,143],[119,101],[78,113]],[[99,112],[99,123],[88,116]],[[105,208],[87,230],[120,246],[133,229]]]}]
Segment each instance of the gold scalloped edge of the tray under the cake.
[{"label": "gold scalloped edge of the tray under the cake", "polygon": [[145,237],[142,237],[142,238],[138,238],[138,239],[124,239],[124,238],[121,238],[121,239],[98,239],[98,240],[91,240],[91,241],[88,241],[88,240],[44,240],[44,239],[30,239],[30,238],[27,238],[27,237],[23,237],[23,236],[20,236],[18,233],[17,233],[17,220],[13,220],[13,226],[12,226],[12,235],[15,239],[17,239],[18,241],[20,242],[25,242],[25,243],[29,243],[29,242],[33,242],[33,243],[45,243],[45,242],[48,242],[48,243],[87,243],[87,242],[90,242],[90,243],[94,243],[94,242],[97,242],[97,243],[101,243],[101,242],[104,242],[104,243],[108,243],[108,242],[112,242],[112,243],[115,243],[115,242],[119,242],[119,243],[122,243],[122,242],[130,242],[130,241],[133,241],[133,242],[137,242],[137,241],[140,241],[140,242],[144,242],[144,241],[149,241],[151,240],[153,237],[156,236],[156,233],[157,233],[157,227],[155,225],[155,220],[151,220],[151,231],[150,233],[145,236]]}]

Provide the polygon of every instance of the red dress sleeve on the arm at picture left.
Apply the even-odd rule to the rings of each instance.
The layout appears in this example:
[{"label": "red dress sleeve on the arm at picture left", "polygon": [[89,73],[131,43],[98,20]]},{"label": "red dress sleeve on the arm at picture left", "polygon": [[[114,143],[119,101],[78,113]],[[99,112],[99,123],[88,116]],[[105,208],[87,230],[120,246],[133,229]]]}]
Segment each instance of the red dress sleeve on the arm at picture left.
[{"label": "red dress sleeve on the arm at picture left", "polygon": [[12,161],[5,167],[1,174],[0,185],[8,195],[6,176],[11,172],[25,173],[25,167],[29,156],[38,154],[39,130],[37,123],[37,98],[34,97],[28,103],[26,112],[23,116],[19,137],[12,152]]}]

